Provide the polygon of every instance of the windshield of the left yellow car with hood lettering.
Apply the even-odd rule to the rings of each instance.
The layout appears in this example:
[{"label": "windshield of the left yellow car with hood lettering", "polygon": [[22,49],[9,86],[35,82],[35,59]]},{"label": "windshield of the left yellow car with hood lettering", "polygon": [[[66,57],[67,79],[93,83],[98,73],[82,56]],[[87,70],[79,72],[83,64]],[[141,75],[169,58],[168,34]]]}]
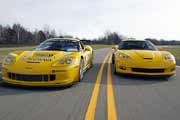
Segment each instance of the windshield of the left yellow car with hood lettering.
[{"label": "windshield of the left yellow car with hood lettering", "polygon": [[35,51],[78,52],[79,42],[73,40],[50,40],[41,43]]}]

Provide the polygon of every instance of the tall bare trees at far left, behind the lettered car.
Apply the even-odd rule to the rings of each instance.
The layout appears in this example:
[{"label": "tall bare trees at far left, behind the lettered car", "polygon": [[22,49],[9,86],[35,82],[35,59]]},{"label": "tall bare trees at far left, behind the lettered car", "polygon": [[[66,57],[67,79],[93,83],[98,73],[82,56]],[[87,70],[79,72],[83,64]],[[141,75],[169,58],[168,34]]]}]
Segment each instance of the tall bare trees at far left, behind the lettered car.
[{"label": "tall bare trees at far left, behind the lettered car", "polygon": [[48,26],[32,32],[20,24],[0,25],[0,44],[39,44],[54,37],[57,37],[56,31],[50,30]]}]

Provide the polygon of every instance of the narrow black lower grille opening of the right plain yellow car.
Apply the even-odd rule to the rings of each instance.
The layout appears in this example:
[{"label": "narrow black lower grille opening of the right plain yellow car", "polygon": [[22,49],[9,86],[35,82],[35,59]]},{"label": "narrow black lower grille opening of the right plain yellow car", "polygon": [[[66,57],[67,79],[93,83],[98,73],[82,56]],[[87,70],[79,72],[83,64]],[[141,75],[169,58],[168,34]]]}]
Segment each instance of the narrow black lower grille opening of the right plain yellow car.
[{"label": "narrow black lower grille opening of the right plain yellow car", "polygon": [[133,72],[143,72],[143,73],[163,73],[164,69],[146,69],[146,68],[132,68]]}]

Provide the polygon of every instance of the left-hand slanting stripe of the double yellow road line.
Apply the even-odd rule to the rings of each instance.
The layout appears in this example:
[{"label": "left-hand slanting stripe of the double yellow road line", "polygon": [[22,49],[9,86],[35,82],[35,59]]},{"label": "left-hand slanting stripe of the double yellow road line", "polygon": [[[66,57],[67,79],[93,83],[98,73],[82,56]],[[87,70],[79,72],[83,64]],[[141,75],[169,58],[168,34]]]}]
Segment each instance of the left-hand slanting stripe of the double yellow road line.
[{"label": "left-hand slanting stripe of the double yellow road line", "polygon": [[104,65],[108,59],[108,55],[106,55],[105,59],[103,60],[103,63],[101,64],[101,67],[99,69],[97,78],[96,78],[96,82],[94,85],[94,89],[92,92],[92,96],[89,102],[89,106],[85,115],[85,120],[94,120],[95,117],[95,111],[96,111],[96,105],[97,105],[97,98],[98,98],[98,94],[99,94],[99,87],[101,84],[101,79],[102,79],[102,74],[103,74],[103,69],[104,69]]}]

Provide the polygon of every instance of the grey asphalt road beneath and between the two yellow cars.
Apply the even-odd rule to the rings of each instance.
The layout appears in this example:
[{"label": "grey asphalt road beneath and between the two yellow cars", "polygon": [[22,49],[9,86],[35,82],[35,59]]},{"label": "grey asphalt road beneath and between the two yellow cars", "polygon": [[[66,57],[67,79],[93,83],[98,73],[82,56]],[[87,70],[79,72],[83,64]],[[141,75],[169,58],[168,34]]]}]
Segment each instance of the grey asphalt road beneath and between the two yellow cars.
[{"label": "grey asphalt road beneath and between the two yellow cars", "polygon": [[[179,67],[169,80],[114,75],[108,61],[101,66],[109,51],[96,50],[94,66],[81,83],[71,87],[10,87],[0,83],[0,120],[84,120],[88,110],[95,120],[108,116],[118,120],[180,118]],[[97,78],[100,68],[102,79]]]}]

